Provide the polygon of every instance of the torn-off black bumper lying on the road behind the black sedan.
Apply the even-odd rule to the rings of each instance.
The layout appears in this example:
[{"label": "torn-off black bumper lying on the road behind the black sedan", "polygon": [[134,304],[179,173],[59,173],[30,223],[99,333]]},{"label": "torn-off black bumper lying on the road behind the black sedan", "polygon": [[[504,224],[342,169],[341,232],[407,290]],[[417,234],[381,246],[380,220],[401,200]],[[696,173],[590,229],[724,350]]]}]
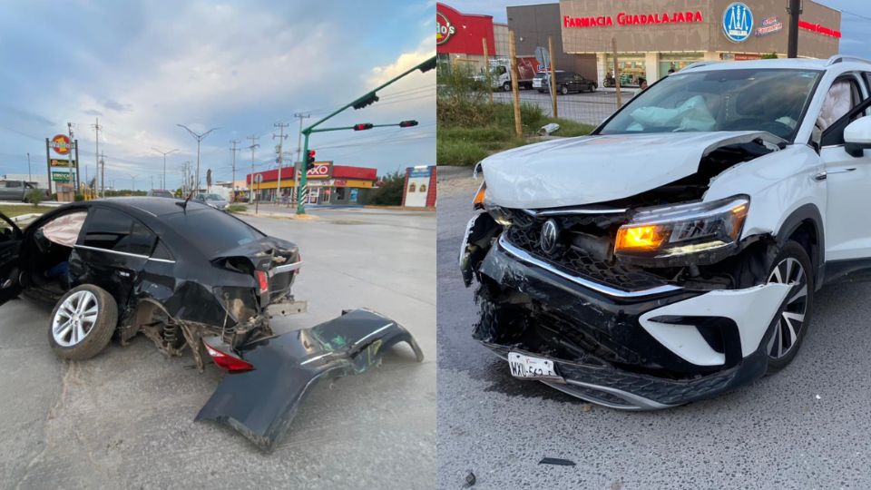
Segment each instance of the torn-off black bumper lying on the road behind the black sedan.
[{"label": "torn-off black bumper lying on the road behind the black sedan", "polygon": [[237,349],[254,369],[225,376],[196,420],[226,424],[269,451],[318,379],[363,373],[399,342],[406,342],[417,361],[423,361],[423,352],[405,328],[366,309],[258,340]]}]

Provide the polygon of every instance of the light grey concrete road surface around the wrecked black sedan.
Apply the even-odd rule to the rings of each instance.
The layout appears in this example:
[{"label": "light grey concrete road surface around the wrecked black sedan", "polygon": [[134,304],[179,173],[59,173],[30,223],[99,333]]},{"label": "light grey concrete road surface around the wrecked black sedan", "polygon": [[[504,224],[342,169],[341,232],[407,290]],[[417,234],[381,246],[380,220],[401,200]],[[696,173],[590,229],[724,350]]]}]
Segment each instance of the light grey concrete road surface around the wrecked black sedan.
[{"label": "light grey concrete road surface around the wrecked black sedan", "polygon": [[[333,211],[318,220],[250,218],[296,241],[295,292],[308,313],[278,332],[341,309],[375,309],[408,328],[418,364],[397,345],[357,377],[315,387],[270,455],[226,426],[193,418],[223,376],[165,358],[142,336],[83,362],[54,357],[51,307],[0,307],[0,487],[428,488],[435,481],[434,213]],[[327,213],[325,213],[327,214]]]}]

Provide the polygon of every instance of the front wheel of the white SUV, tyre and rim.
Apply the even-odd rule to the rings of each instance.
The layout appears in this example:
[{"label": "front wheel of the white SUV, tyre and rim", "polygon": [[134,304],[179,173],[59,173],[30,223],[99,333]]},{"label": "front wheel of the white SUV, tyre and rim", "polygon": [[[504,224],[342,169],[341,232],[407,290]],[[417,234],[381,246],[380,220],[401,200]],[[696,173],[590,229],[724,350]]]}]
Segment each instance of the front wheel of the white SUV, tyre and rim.
[{"label": "front wheel of the white SUV, tyre and rim", "polygon": [[793,287],[768,338],[768,372],[786,368],[796,357],[807,332],[814,297],[810,258],[798,242],[788,241],[773,263],[768,283],[792,284]]}]

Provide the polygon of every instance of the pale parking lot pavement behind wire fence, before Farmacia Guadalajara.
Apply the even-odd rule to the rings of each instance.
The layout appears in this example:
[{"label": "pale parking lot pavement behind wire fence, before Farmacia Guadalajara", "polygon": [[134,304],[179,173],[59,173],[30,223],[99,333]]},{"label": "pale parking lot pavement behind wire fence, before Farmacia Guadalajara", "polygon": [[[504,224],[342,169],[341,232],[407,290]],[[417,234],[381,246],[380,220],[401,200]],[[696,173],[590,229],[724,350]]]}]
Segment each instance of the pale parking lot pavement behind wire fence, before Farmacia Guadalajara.
[{"label": "pale parking lot pavement behind wire fence, before Farmacia Guadalajara", "polygon": [[[621,102],[627,103],[636,89],[622,89]],[[494,101],[512,103],[510,92],[496,92]],[[550,93],[539,93],[537,90],[520,91],[520,102],[531,103],[541,107],[543,113],[553,115],[553,103]],[[568,93],[557,95],[557,113],[564,119],[598,125],[617,110],[617,96],[614,89],[600,89],[592,93]]]}]

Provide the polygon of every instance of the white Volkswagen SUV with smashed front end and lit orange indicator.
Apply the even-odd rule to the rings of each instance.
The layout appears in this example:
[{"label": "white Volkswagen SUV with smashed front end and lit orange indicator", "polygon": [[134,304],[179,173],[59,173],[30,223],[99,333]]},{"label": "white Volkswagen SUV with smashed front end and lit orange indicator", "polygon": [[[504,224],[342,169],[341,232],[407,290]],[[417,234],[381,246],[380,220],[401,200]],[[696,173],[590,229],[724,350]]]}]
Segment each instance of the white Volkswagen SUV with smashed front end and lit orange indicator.
[{"label": "white Volkswagen SUV with smashed front end and lit orange indicator", "polygon": [[590,136],[484,159],[474,337],[514,377],[631,410],[786,368],[815,292],[871,279],[869,83],[843,56],[694,64]]}]

